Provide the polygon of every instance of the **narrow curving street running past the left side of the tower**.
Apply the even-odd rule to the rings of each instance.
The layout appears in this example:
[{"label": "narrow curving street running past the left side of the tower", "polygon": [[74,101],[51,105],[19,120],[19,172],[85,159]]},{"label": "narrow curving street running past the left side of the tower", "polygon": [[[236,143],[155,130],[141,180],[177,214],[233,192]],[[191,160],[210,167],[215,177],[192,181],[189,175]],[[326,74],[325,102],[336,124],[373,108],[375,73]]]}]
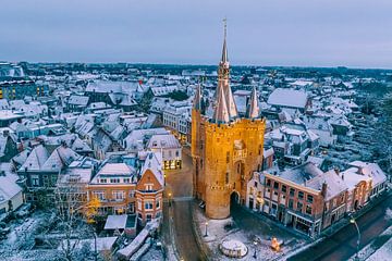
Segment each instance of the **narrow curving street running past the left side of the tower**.
[{"label": "narrow curving street running past the left side of the tower", "polygon": [[[203,258],[193,233],[191,211],[193,203],[193,173],[192,158],[188,149],[183,149],[182,158],[183,165],[181,170],[166,171],[166,198],[171,201],[171,203],[164,204],[164,214],[169,215],[168,219],[164,219],[164,225],[168,225],[168,223],[172,221],[173,238],[175,240],[174,247],[179,252],[180,259],[184,261],[199,261],[203,260]],[[167,231],[169,231],[169,228]]]}]

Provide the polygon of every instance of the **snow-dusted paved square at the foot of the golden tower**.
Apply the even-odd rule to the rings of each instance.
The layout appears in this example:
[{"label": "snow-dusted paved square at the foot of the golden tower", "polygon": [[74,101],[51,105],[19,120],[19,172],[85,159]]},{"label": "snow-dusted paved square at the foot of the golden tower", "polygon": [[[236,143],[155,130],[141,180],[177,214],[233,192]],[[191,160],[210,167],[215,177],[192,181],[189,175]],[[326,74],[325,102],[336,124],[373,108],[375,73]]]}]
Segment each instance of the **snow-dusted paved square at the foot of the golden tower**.
[{"label": "snow-dusted paved square at the foot of the golden tower", "polygon": [[[220,244],[226,239],[238,240],[247,247],[247,254],[238,259],[242,261],[254,261],[255,251],[258,258],[262,257],[262,260],[273,260],[278,257],[283,257],[292,249],[298,248],[306,243],[304,239],[297,238],[285,229],[275,226],[272,221],[264,222],[252,213],[245,212],[245,210],[241,210],[236,214],[232,212],[232,216],[235,217],[225,220],[210,220],[206,217],[204,211],[196,203],[193,206],[193,211],[197,238],[204,245],[201,249],[208,249],[209,260],[229,260],[219,250]],[[271,249],[272,237],[284,241],[279,252]],[[254,244],[255,241],[257,241],[257,245]]]}]

